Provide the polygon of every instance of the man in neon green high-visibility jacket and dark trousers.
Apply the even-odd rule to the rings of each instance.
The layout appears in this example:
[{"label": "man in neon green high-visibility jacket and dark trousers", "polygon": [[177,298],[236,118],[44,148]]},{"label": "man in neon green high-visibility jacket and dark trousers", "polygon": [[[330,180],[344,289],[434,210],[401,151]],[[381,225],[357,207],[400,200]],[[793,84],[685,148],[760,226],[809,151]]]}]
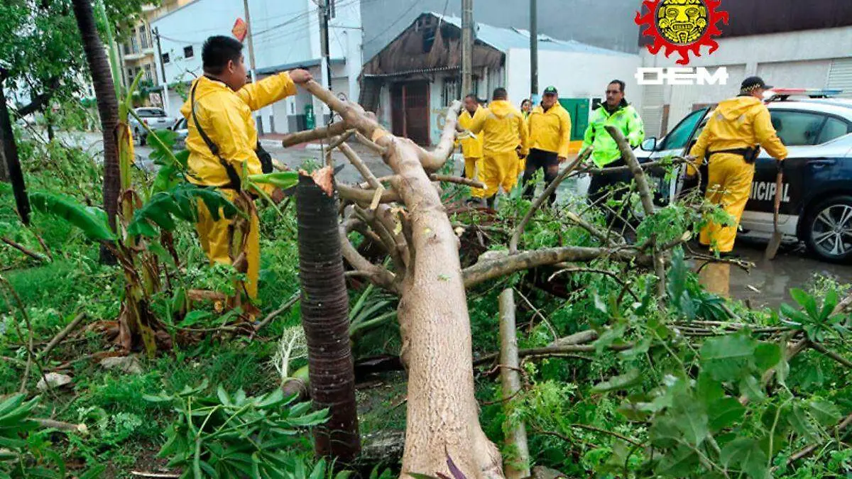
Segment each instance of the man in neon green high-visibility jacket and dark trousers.
[{"label": "man in neon green high-visibility jacket and dark trousers", "polygon": [[[594,147],[592,160],[598,168],[613,168],[625,166],[625,159],[621,158],[619,145],[604,128],[612,125],[624,133],[631,147],[638,147],[645,140],[645,124],[636,109],[625,100],[625,82],[613,80],[607,86],[607,101],[602,103],[589,118],[589,127],[586,129],[581,153],[588,147]],[[630,171],[623,173],[610,173],[595,175],[592,177],[589,187],[589,200],[594,204],[602,199],[608,190],[618,188],[621,183],[630,183]],[[624,186],[624,185],[621,185]],[[613,197],[621,199],[624,191],[613,193]]]}]

